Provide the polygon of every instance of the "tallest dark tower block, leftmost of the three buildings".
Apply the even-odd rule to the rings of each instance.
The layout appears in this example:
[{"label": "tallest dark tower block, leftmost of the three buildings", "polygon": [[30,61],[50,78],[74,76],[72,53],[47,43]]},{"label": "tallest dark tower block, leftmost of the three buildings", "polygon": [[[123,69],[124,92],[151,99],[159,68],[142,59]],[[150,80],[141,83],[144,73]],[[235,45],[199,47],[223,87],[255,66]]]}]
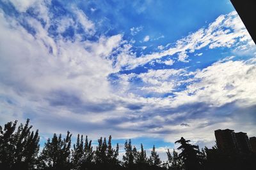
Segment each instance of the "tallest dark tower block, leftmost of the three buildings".
[{"label": "tallest dark tower block, leftmost of the three buildings", "polygon": [[234,130],[225,129],[221,130],[218,129],[214,131],[216,144],[218,148],[225,153],[237,153],[237,139]]}]

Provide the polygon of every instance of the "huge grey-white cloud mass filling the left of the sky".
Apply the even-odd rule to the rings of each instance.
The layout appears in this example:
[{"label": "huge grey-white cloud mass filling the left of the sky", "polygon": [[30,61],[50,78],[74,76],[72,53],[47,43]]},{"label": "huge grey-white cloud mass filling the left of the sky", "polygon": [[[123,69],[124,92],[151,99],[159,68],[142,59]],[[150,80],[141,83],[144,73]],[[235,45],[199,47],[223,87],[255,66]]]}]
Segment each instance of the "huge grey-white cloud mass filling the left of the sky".
[{"label": "huge grey-white cloud mass filling the left of the sky", "polygon": [[[115,100],[108,75],[115,73],[116,70],[109,55],[120,45],[122,35],[102,36],[96,42],[67,41],[62,38],[54,40],[35,19],[27,20],[36,31],[35,36],[32,36],[15,18],[5,17],[3,11],[0,14],[0,95],[16,101],[16,109],[13,104],[4,103],[4,111],[19,114],[10,114],[12,118],[5,117],[1,122],[15,118],[22,121],[28,116],[23,117],[24,112],[30,112],[32,118],[38,117],[36,125],[39,127],[44,126],[44,114],[47,112],[51,113],[47,117],[52,120],[56,117],[70,119],[71,116],[70,121],[81,122],[80,118],[84,117],[79,115],[81,111],[72,111],[72,103],[70,108],[65,104],[61,105],[61,100],[68,100],[68,97],[71,97],[70,102],[80,103],[81,106],[85,104],[84,107],[88,107],[86,103],[92,105]],[[58,97],[61,95],[65,97]],[[57,103],[57,106],[51,106],[52,102]],[[90,111],[86,112],[86,117],[90,117],[91,122],[100,122],[107,118],[103,115],[90,115]],[[114,115],[115,113],[112,114]],[[52,132],[54,129],[56,127],[49,126],[45,131]],[[60,132],[60,129],[56,130]],[[64,132],[66,130],[61,129]]]}]

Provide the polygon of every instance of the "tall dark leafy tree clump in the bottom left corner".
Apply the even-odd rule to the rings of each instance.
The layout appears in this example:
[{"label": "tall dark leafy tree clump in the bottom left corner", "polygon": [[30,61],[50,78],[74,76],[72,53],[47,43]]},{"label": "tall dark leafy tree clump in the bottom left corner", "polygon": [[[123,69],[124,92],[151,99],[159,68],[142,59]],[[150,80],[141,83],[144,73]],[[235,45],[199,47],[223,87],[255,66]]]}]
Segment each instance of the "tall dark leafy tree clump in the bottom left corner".
[{"label": "tall dark leafy tree clump in the bottom left corner", "polygon": [[[0,166],[3,169],[33,169],[39,151],[38,130],[31,131],[29,119],[20,124],[15,132],[17,120],[0,126]],[[13,134],[14,133],[14,134]]]}]

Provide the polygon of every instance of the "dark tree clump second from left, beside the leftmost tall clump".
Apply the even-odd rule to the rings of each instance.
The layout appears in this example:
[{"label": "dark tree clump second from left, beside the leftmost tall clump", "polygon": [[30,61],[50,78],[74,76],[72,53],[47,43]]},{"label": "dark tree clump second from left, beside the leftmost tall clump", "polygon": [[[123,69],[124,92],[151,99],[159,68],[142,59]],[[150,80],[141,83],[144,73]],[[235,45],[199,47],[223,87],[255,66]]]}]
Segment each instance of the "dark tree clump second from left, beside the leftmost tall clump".
[{"label": "dark tree clump second from left, beside the leftmost tall clump", "polygon": [[64,139],[61,139],[61,134],[48,139],[39,157],[38,169],[70,169],[71,136],[67,132]]}]

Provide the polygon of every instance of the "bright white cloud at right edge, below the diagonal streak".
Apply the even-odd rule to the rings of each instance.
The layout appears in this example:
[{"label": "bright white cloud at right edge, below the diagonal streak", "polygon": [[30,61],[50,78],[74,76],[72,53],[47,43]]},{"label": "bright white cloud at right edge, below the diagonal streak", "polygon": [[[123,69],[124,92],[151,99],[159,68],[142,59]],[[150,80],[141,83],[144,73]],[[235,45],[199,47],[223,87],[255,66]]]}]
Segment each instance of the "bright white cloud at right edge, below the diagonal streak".
[{"label": "bright white cloud at right edge, below the diagonal streak", "polygon": [[255,73],[255,64],[250,62],[232,60],[216,62],[196,72],[194,77],[196,83],[188,85],[187,90],[177,92],[174,103],[200,101],[214,106],[222,106],[237,100],[253,103],[256,100],[256,90],[253,85]]}]

